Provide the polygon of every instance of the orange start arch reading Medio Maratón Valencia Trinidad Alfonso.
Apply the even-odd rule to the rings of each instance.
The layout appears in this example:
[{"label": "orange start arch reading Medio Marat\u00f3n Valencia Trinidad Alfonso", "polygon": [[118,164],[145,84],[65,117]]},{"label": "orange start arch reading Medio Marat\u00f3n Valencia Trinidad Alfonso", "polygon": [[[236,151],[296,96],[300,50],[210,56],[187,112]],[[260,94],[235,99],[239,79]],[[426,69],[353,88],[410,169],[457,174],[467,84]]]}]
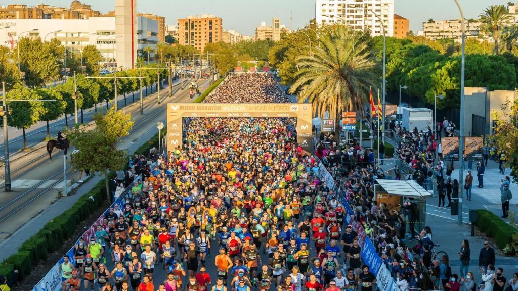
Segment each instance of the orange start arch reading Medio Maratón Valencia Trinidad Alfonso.
[{"label": "orange start arch reading Medio Marat\u00f3n Valencia Trinidad Alfonso", "polygon": [[167,142],[169,149],[182,146],[184,118],[296,118],[297,143],[311,152],[312,112],[307,103],[168,103]]}]

